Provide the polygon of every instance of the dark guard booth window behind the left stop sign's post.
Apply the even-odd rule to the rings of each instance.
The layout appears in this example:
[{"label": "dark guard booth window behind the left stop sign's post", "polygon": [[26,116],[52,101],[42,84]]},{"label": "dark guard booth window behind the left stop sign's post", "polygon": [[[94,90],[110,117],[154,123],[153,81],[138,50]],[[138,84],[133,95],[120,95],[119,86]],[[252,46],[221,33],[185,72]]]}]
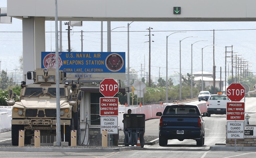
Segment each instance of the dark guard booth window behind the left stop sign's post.
[{"label": "dark guard booth window behind the left stop sign's post", "polygon": [[100,97],[104,96],[101,93],[90,93],[90,125],[100,125]]}]

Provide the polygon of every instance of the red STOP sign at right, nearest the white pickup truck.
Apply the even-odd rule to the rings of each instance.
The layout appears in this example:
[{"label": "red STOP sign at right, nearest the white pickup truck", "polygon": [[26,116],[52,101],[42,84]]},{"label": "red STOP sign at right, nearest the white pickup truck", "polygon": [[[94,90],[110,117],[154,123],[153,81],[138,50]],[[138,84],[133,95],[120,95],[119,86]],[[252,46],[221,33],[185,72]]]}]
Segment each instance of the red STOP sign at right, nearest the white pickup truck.
[{"label": "red STOP sign at right, nearest the white pickup truck", "polygon": [[227,88],[227,97],[231,101],[240,101],[245,96],[245,88],[240,83],[232,83]]}]

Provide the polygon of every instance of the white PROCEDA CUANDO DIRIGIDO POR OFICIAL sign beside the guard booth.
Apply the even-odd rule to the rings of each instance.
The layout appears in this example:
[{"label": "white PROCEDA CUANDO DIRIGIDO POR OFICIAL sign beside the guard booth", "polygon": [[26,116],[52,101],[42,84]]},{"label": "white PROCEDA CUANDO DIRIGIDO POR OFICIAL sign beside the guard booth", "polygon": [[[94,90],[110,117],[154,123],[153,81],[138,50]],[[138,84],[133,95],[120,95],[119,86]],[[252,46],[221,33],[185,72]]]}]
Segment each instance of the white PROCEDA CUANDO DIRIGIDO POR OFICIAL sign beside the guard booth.
[{"label": "white PROCEDA CUANDO DIRIGIDO POR OFICIAL sign beside the guard booth", "polygon": [[117,116],[101,116],[100,117],[100,134],[106,129],[108,134],[118,134]]}]

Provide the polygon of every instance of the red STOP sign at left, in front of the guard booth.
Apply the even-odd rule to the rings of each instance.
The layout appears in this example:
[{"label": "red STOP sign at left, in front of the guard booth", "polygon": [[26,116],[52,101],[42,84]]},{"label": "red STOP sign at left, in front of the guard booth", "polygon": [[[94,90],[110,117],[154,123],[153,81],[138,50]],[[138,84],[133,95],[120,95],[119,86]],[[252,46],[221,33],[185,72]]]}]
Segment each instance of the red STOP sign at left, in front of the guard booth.
[{"label": "red STOP sign at left, in front of the guard booth", "polygon": [[114,97],[118,92],[118,84],[113,78],[105,78],[100,83],[100,93],[104,97]]}]

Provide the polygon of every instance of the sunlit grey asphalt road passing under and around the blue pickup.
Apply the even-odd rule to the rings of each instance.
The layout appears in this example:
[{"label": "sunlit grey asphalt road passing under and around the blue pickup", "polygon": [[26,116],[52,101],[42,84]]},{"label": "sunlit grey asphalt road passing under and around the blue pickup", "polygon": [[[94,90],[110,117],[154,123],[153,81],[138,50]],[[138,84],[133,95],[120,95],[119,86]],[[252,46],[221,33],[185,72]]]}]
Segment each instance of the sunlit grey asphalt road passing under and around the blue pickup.
[{"label": "sunlit grey asphalt road passing under and around the blue pickup", "polygon": [[[203,101],[194,101],[190,104],[203,103]],[[256,125],[256,98],[246,98],[245,113],[251,115],[249,119],[250,125]],[[120,152],[11,152],[0,151],[1,157],[8,158],[28,158],[28,157],[184,157],[184,158],[204,158],[204,157],[256,157],[255,151],[225,151],[225,150],[209,150],[215,144],[224,144],[226,141],[226,115],[211,115],[204,117],[205,119],[205,145],[202,147],[196,146],[195,140],[169,140],[167,146],[145,145],[141,150],[127,150]],[[158,119],[146,121],[145,135],[158,135]],[[7,135],[5,135],[7,134]],[[120,131],[121,134],[121,131]],[[10,132],[0,133],[0,140],[10,137]]]}]

